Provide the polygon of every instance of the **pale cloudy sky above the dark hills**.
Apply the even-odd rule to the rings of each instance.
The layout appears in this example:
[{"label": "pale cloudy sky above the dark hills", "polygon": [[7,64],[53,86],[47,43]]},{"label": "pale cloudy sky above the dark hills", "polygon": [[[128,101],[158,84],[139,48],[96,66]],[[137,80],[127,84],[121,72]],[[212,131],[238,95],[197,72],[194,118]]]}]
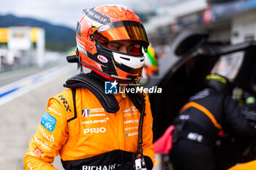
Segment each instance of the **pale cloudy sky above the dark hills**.
[{"label": "pale cloudy sky above the dark hills", "polygon": [[80,12],[102,4],[123,4],[130,7],[133,0],[6,0],[0,1],[0,15],[12,14],[68,26],[75,29]]}]

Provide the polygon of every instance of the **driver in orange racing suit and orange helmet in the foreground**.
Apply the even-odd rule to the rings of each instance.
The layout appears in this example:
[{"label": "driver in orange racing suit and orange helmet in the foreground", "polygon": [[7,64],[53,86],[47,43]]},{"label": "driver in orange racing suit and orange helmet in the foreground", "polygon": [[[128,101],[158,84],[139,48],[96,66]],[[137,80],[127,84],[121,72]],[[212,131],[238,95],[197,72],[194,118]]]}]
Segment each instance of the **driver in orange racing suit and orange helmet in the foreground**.
[{"label": "driver in orange racing suit and orange helmet in the foreground", "polygon": [[49,99],[24,168],[56,169],[53,159],[60,155],[64,169],[152,169],[148,97],[101,93],[108,83],[111,90],[140,79],[148,39],[138,16],[121,5],[83,9],[76,41],[75,60],[92,72],[67,80],[69,89]]}]

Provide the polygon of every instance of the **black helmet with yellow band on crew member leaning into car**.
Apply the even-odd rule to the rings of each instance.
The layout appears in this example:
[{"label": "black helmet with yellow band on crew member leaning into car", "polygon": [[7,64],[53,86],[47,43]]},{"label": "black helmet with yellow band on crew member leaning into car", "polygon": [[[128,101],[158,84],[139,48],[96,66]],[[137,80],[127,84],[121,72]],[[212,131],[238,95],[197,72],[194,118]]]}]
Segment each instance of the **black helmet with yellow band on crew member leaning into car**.
[{"label": "black helmet with yellow band on crew member leaning into car", "polygon": [[206,76],[206,86],[214,88],[217,91],[232,90],[230,81],[219,74],[208,74],[208,76]]}]

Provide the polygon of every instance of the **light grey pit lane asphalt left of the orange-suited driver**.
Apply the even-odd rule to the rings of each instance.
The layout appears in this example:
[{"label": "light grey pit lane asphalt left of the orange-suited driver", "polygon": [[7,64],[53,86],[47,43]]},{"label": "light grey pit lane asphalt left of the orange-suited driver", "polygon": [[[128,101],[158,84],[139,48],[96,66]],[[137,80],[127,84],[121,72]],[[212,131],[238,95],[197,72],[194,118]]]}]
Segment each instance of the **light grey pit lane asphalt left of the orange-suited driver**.
[{"label": "light grey pit lane asphalt left of the orange-suited driver", "polygon": [[[59,76],[50,82],[0,105],[0,169],[23,169],[23,157],[45,112],[48,98],[65,89],[65,80],[76,73],[76,65],[73,68],[64,75],[60,71]],[[31,67],[0,74],[0,85],[7,85],[46,69],[50,68]],[[57,169],[63,169],[59,158],[54,161],[54,165]]]}]

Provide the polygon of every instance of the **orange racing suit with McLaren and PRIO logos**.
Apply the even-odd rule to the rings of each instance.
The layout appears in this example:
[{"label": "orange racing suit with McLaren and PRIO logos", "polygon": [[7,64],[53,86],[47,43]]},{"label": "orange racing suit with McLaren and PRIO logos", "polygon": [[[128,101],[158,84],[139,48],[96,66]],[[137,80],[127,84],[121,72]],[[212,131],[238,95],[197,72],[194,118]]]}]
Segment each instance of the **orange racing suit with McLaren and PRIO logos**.
[{"label": "orange racing suit with McLaren and PRIO logos", "polygon": [[[76,89],[76,113],[71,89],[50,98],[25,155],[25,169],[55,169],[51,163],[57,155],[64,169],[115,169],[132,161],[133,152],[138,150],[140,112],[129,97],[120,93],[115,97],[120,107],[116,113],[106,112],[86,88]],[[154,163],[148,96],[145,113],[143,155]]]}]

